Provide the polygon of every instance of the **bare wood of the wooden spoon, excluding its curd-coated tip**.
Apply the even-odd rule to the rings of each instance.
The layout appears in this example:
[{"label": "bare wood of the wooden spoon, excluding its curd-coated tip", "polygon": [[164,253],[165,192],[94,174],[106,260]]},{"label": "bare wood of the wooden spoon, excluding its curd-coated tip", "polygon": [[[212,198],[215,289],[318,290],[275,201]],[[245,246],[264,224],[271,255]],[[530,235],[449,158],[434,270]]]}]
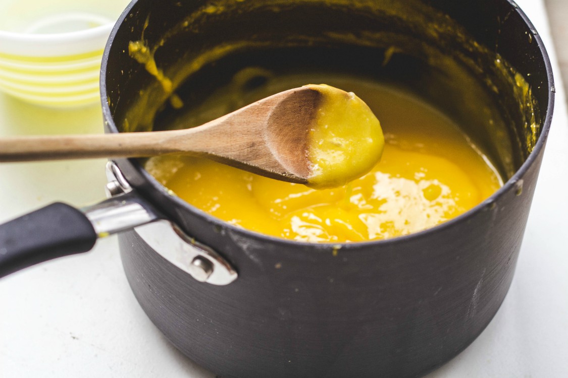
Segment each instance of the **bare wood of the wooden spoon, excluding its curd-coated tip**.
[{"label": "bare wood of the wooden spoon, excluding its curd-coated tip", "polygon": [[314,166],[307,154],[310,133],[318,127],[318,111],[329,91],[353,97],[337,88],[310,85],[266,97],[191,129],[2,138],[0,162],[182,153],[307,184]]}]

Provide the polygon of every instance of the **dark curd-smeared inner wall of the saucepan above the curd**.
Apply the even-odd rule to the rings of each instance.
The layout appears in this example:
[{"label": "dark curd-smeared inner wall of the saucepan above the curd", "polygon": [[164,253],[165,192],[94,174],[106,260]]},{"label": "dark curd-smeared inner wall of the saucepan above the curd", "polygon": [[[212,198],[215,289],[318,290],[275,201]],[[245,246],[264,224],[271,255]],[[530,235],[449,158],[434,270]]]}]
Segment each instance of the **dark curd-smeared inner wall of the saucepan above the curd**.
[{"label": "dark curd-smeared inner wall of the saucepan above the curd", "polygon": [[[486,7],[491,19],[478,6],[444,1],[139,1],[125,13],[108,54],[109,128],[176,127],[247,67],[277,75],[351,74],[395,84],[440,109],[507,180],[541,133],[546,72],[534,32],[506,12],[508,3]],[[519,34],[523,44],[508,43]],[[171,91],[129,54],[132,41],[151,50]],[[172,105],[173,95],[183,107]]]}]

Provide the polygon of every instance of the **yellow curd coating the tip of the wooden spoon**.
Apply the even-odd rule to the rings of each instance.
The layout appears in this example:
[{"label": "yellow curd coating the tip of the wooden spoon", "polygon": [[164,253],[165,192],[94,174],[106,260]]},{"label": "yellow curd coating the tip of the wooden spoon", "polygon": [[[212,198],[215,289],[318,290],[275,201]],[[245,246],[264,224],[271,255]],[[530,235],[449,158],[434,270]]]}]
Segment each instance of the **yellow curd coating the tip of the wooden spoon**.
[{"label": "yellow curd coating the tip of the wooden spoon", "polygon": [[308,186],[335,188],[369,172],[381,159],[385,146],[377,117],[353,92],[325,84],[306,87],[323,95],[315,127],[309,130]]}]

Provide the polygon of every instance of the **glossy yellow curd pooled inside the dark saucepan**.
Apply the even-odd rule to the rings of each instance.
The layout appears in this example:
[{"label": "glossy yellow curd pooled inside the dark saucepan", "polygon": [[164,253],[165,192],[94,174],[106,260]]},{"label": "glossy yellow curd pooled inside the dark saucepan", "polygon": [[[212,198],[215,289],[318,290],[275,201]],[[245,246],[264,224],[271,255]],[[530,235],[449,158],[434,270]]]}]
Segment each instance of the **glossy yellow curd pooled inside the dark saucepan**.
[{"label": "glossy yellow curd pooled inside the dark saucepan", "polygon": [[[233,96],[252,102],[315,80],[356,93],[381,121],[381,162],[366,175],[319,190],[189,156],[152,158],[146,169],[172,193],[237,227],[324,243],[425,230],[464,213],[502,186],[490,160],[449,118],[395,88],[354,78],[290,75]],[[212,100],[212,107],[222,99]],[[350,154],[358,153],[357,143]]]}]

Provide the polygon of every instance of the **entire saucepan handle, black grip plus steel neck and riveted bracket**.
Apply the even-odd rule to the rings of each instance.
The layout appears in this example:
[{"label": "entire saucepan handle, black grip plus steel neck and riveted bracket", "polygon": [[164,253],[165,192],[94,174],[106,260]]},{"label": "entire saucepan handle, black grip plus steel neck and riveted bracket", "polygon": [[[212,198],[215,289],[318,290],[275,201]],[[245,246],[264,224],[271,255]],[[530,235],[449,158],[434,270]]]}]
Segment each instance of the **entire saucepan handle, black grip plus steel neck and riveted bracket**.
[{"label": "entire saucepan handle, black grip plus steel neck and riveted bracket", "polygon": [[0,224],[0,278],[52,258],[87,252],[98,237],[133,231],[173,265],[200,282],[226,285],[237,272],[215,250],[198,243],[167,220],[107,164],[106,201],[78,210],[53,203]]}]

